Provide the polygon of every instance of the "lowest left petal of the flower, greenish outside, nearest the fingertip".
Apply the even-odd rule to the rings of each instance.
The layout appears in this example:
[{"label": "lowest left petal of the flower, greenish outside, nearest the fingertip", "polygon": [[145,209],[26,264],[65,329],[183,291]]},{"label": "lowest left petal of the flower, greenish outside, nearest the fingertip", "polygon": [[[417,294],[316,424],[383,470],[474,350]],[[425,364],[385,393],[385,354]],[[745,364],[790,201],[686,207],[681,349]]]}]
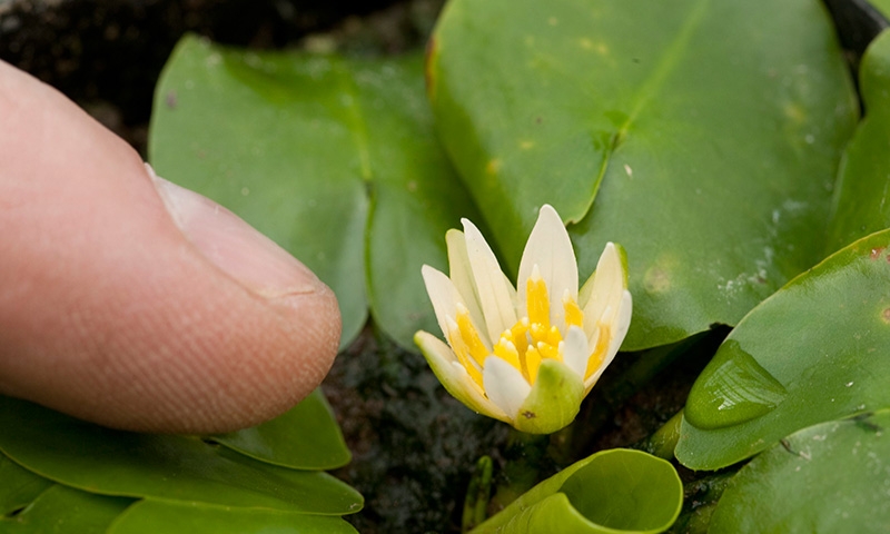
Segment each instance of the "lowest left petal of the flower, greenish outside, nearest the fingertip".
[{"label": "lowest left petal of the flower, greenish outside, nearest the fingertip", "polygon": [[414,336],[414,342],[421,347],[433,373],[454,398],[476,413],[511,422],[512,417],[507,417],[504,411],[485,397],[469,373],[457,362],[454,352],[441,339],[421,330]]}]

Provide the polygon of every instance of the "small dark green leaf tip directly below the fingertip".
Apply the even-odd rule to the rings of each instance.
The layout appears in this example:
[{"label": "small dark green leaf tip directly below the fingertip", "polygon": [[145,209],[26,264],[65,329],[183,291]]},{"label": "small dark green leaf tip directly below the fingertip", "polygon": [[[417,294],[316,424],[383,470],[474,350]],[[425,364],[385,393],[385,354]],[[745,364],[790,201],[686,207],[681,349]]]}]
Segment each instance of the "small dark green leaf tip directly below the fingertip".
[{"label": "small dark green leaf tip directly below the fingertip", "polygon": [[281,416],[212,439],[253,458],[296,469],[333,469],[352,458],[319,389]]}]

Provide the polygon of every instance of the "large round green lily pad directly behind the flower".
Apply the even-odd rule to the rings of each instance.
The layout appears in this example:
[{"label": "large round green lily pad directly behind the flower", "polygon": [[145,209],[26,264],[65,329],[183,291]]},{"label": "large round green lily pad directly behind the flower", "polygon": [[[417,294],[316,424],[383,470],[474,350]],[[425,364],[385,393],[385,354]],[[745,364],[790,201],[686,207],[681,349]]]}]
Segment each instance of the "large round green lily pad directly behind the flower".
[{"label": "large round green lily pad directly behind the flower", "polygon": [[624,349],[734,325],[821,259],[858,107],[818,0],[454,0],[428,76],[510,267],[544,202],[582,278],[624,246]]}]

